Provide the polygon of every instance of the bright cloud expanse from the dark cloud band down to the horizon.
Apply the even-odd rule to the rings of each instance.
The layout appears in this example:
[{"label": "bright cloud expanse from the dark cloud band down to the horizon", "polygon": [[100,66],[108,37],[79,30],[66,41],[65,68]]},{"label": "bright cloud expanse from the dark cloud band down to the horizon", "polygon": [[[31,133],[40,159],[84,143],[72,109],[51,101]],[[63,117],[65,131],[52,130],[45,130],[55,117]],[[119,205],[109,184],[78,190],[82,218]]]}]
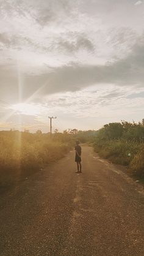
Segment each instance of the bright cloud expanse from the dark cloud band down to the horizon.
[{"label": "bright cloud expanse from the dark cloud band down to the horizon", "polygon": [[[142,89],[137,89],[137,92],[140,91],[142,92]],[[41,98],[41,104],[39,100],[31,104],[7,106],[5,113],[8,110],[10,113],[6,116],[5,113],[0,113],[0,117],[4,116],[1,118],[2,123],[6,120],[11,128],[30,128],[31,131],[42,129],[46,132],[49,130],[48,115],[57,116],[52,127],[59,130],[70,127],[96,129],[106,122],[129,120],[133,115],[137,117],[135,119],[133,116],[133,119],[139,121],[142,119],[143,99],[131,100],[128,96],[134,92],[135,88],[132,86],[98,85],[97,91],[95,86],[90,86],[81,91],[45,95]],[[14,113],[11,109],[15,110]],[[85,118],[88,120],[87,124]],[[6,126],[4,127],[6,129]]]}]

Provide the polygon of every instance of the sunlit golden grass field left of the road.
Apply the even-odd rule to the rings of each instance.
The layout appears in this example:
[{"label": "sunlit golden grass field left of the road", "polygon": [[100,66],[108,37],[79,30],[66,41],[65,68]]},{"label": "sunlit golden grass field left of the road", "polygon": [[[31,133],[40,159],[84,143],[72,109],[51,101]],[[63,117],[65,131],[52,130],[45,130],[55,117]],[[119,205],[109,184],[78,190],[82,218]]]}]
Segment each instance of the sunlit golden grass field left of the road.
[{"label": "sunlit golden grass field left of the road", "polygon": [[73,146],[68,135],[0,132],[0,190],[56,162]]}]

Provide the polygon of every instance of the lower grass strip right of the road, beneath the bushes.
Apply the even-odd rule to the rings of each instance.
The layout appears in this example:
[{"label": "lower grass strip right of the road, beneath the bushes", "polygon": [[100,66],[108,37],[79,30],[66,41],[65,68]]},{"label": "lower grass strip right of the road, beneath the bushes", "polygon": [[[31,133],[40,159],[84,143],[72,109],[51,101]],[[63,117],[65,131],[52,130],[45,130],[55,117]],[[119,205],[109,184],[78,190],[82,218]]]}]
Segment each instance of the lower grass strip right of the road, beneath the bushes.
[{"label": "lower grass strip right of the road, beneath the bushes", "polygon": [[113,164],[121,164],[129,167],[134,176],[143,176],[144,173],[144,143],[135,143],[110,140],[103,145],[95,143],[94,149],[100,157],[109,159]]}]

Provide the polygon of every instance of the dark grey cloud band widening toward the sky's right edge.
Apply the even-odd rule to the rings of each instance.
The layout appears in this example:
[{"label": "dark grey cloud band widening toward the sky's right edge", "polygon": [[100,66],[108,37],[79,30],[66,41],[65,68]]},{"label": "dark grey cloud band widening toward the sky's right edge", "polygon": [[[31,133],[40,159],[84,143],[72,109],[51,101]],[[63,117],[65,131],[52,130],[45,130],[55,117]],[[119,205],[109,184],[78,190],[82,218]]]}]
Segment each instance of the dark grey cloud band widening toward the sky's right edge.
[{"label": "dark grey cloud band widening toward the sky's right edge", "polygon": [[45,74],[48,78],[45,92],[77,91],[99,83],[143,86],[143,64],[144,44],[141,42],[126,58],[104,66],[72,64],[54,69],[52,73]]}]

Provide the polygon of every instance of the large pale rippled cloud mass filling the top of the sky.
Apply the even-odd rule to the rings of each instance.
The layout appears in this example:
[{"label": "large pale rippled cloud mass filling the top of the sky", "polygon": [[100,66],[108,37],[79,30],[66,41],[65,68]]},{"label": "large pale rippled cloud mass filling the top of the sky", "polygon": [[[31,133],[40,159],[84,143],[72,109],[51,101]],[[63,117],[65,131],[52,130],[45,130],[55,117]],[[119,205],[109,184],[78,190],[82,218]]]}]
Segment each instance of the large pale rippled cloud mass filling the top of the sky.
[{"label": "large pale rippled cloud mass filling the top of the sky", "polygon": [[[41,69],[45,64],[93,65],[123,58],[137,40],[135,27],[132,28],[135,18],[128,18],[132,8],[126,13],[132,25],[120,20],[123,5],[128,9],[129,1],[1,1],[1,62],[9,63],[9,58],[25,62],[31,71],[31,64],[39,64]],[[112,20],[106,14],[108,9],[112,9]],[[138,12],[135,10],[135,15],[140,17]],[[139,21],[135,20],[137,24]]]}]

